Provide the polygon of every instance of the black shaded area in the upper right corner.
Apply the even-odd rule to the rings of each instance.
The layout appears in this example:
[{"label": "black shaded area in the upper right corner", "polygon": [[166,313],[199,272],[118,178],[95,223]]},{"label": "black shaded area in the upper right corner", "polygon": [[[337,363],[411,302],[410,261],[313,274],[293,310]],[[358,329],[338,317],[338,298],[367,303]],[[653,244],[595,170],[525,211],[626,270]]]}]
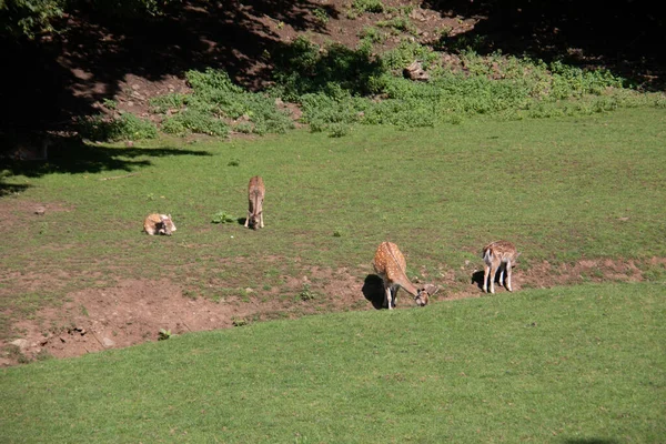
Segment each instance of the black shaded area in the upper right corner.
[{"label": "black shaded area in the upper right corner", "polygon": [[666,19],[647,0],[424,0],[445,16],[483,18],[445,48],[527,54],[546,62],[605,67],[646,90],[664,90]]}]

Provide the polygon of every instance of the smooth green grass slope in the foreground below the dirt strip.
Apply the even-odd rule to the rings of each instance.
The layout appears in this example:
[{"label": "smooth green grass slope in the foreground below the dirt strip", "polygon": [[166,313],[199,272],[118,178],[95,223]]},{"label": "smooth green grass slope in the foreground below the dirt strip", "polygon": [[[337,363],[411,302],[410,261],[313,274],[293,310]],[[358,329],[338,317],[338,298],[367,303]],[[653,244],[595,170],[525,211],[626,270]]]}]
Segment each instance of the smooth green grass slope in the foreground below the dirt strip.
[{"label": "smooth green grass slope in the foreground below the dirt strip", "polygon": [[640,442],[663,284],[531,290],[189,334],[0,371],[6,442]]}]

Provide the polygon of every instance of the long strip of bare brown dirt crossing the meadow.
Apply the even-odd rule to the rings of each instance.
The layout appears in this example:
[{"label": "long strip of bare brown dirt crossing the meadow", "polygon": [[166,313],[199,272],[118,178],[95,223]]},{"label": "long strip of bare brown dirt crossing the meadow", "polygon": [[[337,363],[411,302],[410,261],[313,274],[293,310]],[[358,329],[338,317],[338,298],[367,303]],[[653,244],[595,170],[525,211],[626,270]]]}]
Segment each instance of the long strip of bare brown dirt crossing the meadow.
[{"label": "long strip of bare brown dirt crossing the meadow", "polygon": [[[553,265],[544,261],[532,264],[527,271],[516,269],[514,291],[583,282],[638,282],[644,279],[646,266],[663,269],[666,258],[653,258],[646,263],[605,259]],[[13,330],[22,337],[0,342],[0,349],[13,347],[13,353],[0,357],[0,365],[40,356],[79,356],[158,341],[160,331],[184,334],[313,313],[381,309],[381,280],[370,268],[362,268],[362,274],[365,280],[347,269],[312,268],[302,276],[287,279],[285,285],[292,296],[286,299],[276,291],[260,297],[253,289],[245,289],[246,297],[231,296],[220,302],[192,300],[183,295],[181,285],[167,280],[125,280],[113,286],[73,292],[62,306],[43,309],[33,319],[16,323]],[[441,291],[434,300],[492,297],[480,289],[482,276],[482,270],[463,265],[460,273],[447,273],[436,282]],[[496,286],[497,293],[505,291]],[[397,302],[398,309],[414,306],[404,291],[398,293]]]}]

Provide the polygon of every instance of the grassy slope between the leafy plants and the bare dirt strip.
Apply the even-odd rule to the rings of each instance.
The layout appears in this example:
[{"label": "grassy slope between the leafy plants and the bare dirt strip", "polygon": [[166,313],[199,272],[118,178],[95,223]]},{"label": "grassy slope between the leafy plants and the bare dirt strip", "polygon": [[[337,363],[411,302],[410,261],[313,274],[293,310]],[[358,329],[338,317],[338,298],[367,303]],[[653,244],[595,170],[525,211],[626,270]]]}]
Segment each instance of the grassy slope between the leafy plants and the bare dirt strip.
[{"label": "grassy slope between the leafy plants and the bare dirt strip", "polygon": [[[118,160],[150,165],[108,181],[100,179],[127,171],[14,178],[32,185],[17,199],[73,211],[23,218],[0,249],[7,272],[64,270],[83,285],[173,276],[206,296],[213,294],[203,282],[280,286],[275,276],[310,265],[350,266],[363,278],[369,270],[359,266],[384,240],[431,279],[477,262],[481,246],[497,238],[514,240],[527,266],[664,256],[665,121],[662,110],[625,110],[408,132],[362,128],[343,139],[292,132],[195,151],[210,155],[111,149]],[[220,210],[245,215],[254,174],[268,186],[266,229],[211,224]],[[173,215],[173,238],[141,235],[141,220],[153,211]]]}]

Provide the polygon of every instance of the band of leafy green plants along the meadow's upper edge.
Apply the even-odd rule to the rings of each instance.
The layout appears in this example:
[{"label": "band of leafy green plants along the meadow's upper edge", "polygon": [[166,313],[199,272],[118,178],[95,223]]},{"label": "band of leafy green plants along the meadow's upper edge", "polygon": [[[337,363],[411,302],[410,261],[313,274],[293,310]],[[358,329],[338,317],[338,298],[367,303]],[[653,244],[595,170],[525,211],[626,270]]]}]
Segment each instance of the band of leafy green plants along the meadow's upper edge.
[{"label": "band of leafy green plants along the meadow's upper edge", "polygon": [[[396,19],[404,19],[397,16]],[[387,24],[389,26],[389,24]],[[604,69],[582,70],[559,61],[544,63],[501,53],[460,51],[464,70],[444,67],[440,52],[408,40],[376,56],[383,34],[364,30],[362,44],[320,47],[304,37],[272,54],[275,83],[251,93],[223,71],[189,71],[192,94],[154,98],[168,133],[225,135],[283,133],[293,128],[276,102],[301,107],[301,121],[313,132],[347,135],[353,125],[390,124],[401,129],[461,123],[478,115],[497,120],[588,115],[632,107],[666,107],[664,94],[638,93]],[[402,77],[418,60],[428,82]]]}]

